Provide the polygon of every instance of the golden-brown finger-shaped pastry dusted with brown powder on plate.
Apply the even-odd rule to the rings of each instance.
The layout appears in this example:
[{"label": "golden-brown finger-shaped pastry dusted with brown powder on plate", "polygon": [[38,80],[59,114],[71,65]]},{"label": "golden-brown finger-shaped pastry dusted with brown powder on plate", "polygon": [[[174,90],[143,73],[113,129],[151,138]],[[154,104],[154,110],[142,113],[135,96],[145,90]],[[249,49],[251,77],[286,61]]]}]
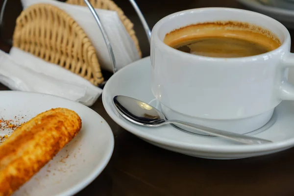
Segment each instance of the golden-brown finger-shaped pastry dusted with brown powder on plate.
[{"label": "golden-brown finger-shaped pastry dusted with brown powder on plate", "polygon": [[81,124],[74,111],[56,108],[16,129],[0,145],[0,196],[11,195],[28,181],[75,137]]}]

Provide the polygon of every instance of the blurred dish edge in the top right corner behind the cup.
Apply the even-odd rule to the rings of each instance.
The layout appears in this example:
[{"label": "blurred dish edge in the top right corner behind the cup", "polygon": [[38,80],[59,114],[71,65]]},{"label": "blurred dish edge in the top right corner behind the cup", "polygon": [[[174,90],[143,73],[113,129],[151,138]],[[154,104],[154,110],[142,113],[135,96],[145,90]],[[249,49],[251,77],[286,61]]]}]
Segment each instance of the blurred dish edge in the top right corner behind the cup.
[{"label": "blurred dish edge in the top right corner behind the cup", "polygon": [[252,11],[259,12],[276,19],[288,28],[294,28],[294,11],[279,7],[264,5],[258,0],[238,0]]}]

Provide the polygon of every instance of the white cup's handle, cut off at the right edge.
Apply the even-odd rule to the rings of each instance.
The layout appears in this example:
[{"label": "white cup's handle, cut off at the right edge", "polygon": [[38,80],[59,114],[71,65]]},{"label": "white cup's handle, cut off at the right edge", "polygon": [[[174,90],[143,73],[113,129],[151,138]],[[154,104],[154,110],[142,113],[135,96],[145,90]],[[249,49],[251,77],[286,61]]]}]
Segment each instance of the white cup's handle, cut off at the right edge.
[{"label": "white cup's handle, cut off at the right edge", "polygon": [[[294,68],[294,53],[286,53],[282,58],[282,68]],[[294,85],[287,78],[283,78],[279,86],[280,98],[282,100],[294,100]]]}]

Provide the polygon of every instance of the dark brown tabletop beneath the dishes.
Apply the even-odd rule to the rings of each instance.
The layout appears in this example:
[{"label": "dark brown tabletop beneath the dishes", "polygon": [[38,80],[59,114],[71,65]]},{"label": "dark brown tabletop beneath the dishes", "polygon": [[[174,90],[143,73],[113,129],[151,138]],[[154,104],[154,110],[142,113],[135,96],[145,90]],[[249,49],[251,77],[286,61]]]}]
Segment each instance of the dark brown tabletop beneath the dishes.
[{"label": "dark brown tabletop beneath the dishes", "polygon": [[[2,2],[2,0],[0,0]],[[116,0],[135,24],[143,55],[149,55],[144,30],[128,0]],[[197,7],[246,9],[235,0],[137,0],[149,26],[176,11]],[[2,38],[11,38],[21,11],[10,0]],[[294,37],[294,31],[290,31]],[[0,49],[9,45],[0,42]],[[0,84],[0,90],[7,88]],[[239,160],[208,160],[154,147],[114,123],[101,98],[91,107],[111,126],[115,148],[105,170],[77,196],[293,196],[294,148]]]}]

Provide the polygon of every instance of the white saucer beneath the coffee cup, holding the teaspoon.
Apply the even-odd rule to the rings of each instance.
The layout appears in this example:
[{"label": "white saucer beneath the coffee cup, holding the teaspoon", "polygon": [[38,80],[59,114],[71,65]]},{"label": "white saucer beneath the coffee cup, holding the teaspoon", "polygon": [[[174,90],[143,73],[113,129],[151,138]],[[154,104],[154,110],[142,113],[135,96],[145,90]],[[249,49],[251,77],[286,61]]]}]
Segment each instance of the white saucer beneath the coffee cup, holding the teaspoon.
[{"label": "white saucer beneath the coffee cup, holding the teaspoon", "polygon": [[147,142],[175,152],[211,159],[237,159],[278,152],[294,146],[294,101],[283,101],[275,110],[276,122],[256,137],[273,141],[265,145],[241,145],[217,137],[192,135],[164,125],[151,128],[125,120],[115,110],[112,98],[124,95],[158,108],[150,90],[150,58],[136,61],[115,73],[106,83],[102,100],[108,115],[119,125]]}]

